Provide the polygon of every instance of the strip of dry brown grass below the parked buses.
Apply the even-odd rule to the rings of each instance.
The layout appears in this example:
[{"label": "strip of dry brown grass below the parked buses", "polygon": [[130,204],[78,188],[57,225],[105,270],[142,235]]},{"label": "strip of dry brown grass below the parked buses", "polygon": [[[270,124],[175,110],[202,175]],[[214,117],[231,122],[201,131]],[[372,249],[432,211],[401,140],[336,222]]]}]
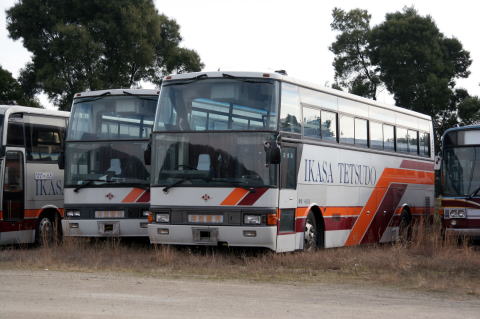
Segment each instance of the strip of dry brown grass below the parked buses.
[{"label": "strip of dry brown grass below the parked buses", "polygon": [[66,239],[47,248],[7,247],[0,268],[113,271],[166,278],[382,284],[480,295],[478,247],[418,227],[408,244],[275,254],[265,250],[175,248],[147,242]]}]

